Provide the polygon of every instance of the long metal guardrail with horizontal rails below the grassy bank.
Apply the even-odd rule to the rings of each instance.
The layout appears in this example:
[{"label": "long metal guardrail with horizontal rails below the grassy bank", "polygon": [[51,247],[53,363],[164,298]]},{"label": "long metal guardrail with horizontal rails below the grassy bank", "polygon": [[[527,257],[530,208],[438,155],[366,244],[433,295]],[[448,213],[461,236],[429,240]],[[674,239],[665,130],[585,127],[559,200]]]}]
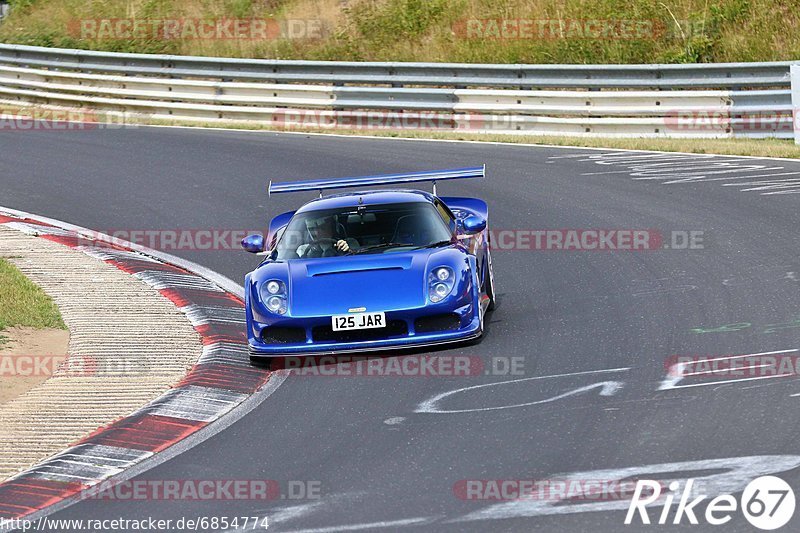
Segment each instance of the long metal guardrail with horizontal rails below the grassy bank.
[{"label": "long metal guardrail with horizontal rails below the grassy bank", "polygon": [[356,63],[0,45],[0,99],[284,128],[792,138],[791,65]]}]

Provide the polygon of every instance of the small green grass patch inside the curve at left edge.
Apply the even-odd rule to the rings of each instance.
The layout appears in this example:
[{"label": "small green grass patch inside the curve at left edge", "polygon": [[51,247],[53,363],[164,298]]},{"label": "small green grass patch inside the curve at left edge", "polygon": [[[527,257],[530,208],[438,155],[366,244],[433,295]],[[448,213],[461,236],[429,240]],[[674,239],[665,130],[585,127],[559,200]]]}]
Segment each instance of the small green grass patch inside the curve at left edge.
[{"label": "small green grass patch inside the curve at left edge", "polygon": [[0,259],[0,344],[2,331],[22,326],[36,329],[67,329],[58,307],[14,265]]}]

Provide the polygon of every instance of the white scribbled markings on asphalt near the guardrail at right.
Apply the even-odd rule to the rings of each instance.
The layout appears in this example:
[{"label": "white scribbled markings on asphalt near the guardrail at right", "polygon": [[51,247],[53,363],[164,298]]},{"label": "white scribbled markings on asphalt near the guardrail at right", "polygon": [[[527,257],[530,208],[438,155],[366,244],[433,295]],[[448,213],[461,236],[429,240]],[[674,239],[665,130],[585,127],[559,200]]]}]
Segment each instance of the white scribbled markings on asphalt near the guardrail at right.
[{"label": "white scribbled markings on asphalt near the guardrail at right", "polygon": [[663,185],[713,181],[721,182],[726,187],[738,187],[742,192],[758,192],[764,196],[800,193],[800,170],[793,171],[772,161],[761,163],[757,159],[704,154],[627,152],[570,154],[548,159],[548,162],[572,159],[613,167],[613,170],[584,172],[582,176],[622,174],[634,180],[660,181]]}]

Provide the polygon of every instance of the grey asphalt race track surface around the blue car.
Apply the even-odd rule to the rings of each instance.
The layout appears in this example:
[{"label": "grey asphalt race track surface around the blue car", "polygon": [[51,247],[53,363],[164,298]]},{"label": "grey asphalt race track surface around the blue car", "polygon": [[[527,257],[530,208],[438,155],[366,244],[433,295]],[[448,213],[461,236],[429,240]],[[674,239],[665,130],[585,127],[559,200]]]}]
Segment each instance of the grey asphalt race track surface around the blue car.
[{"label": "grey asphalt race track surface around the blue car", "polygon": [[[800,489],[800,381],[670,379],[667,368],[675,355],[796,353],[800,196],[786,180],[800,162],[165,128],[3,131],[0,147],[0,205],[106,232],[259,229],[313,197],[268,199],[268,179],[486,163],[487,180],[442,183],[439,194],[486,199],[495,231],[647,229],[670,246],[497,249],[487,336],[436,353],[480,356],[487,368],[492,357],[522,358],[521,375],[290,377],[225,431],[142,474],[311,481],[318,499],[86,500],[52,518],[267,516],[276,531],[751,531],[741,514],[725,526],[625,527],[627,503],[610,497],[468,500],[458,487],[693,477],[711,497],[738,497],[773,473]],[[702,232],[702,245],[674,249],[673,231]],[[167,251],[234,280],[257,264],[239,250]],[[798,528],[795,516],[786,529]]]}]

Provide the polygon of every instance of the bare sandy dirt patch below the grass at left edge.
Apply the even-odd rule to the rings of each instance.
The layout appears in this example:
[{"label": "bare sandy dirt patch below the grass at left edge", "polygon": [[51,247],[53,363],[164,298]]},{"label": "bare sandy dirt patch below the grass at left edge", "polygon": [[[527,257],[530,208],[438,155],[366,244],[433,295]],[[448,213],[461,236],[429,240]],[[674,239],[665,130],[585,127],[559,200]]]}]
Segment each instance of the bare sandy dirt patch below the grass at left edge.
[{"label": "bare sandy dirt patch below the grass at left edge", "polygon": [[0,332],[0,405],[50,377],[67,355],[69,331],[12,327]]}]

